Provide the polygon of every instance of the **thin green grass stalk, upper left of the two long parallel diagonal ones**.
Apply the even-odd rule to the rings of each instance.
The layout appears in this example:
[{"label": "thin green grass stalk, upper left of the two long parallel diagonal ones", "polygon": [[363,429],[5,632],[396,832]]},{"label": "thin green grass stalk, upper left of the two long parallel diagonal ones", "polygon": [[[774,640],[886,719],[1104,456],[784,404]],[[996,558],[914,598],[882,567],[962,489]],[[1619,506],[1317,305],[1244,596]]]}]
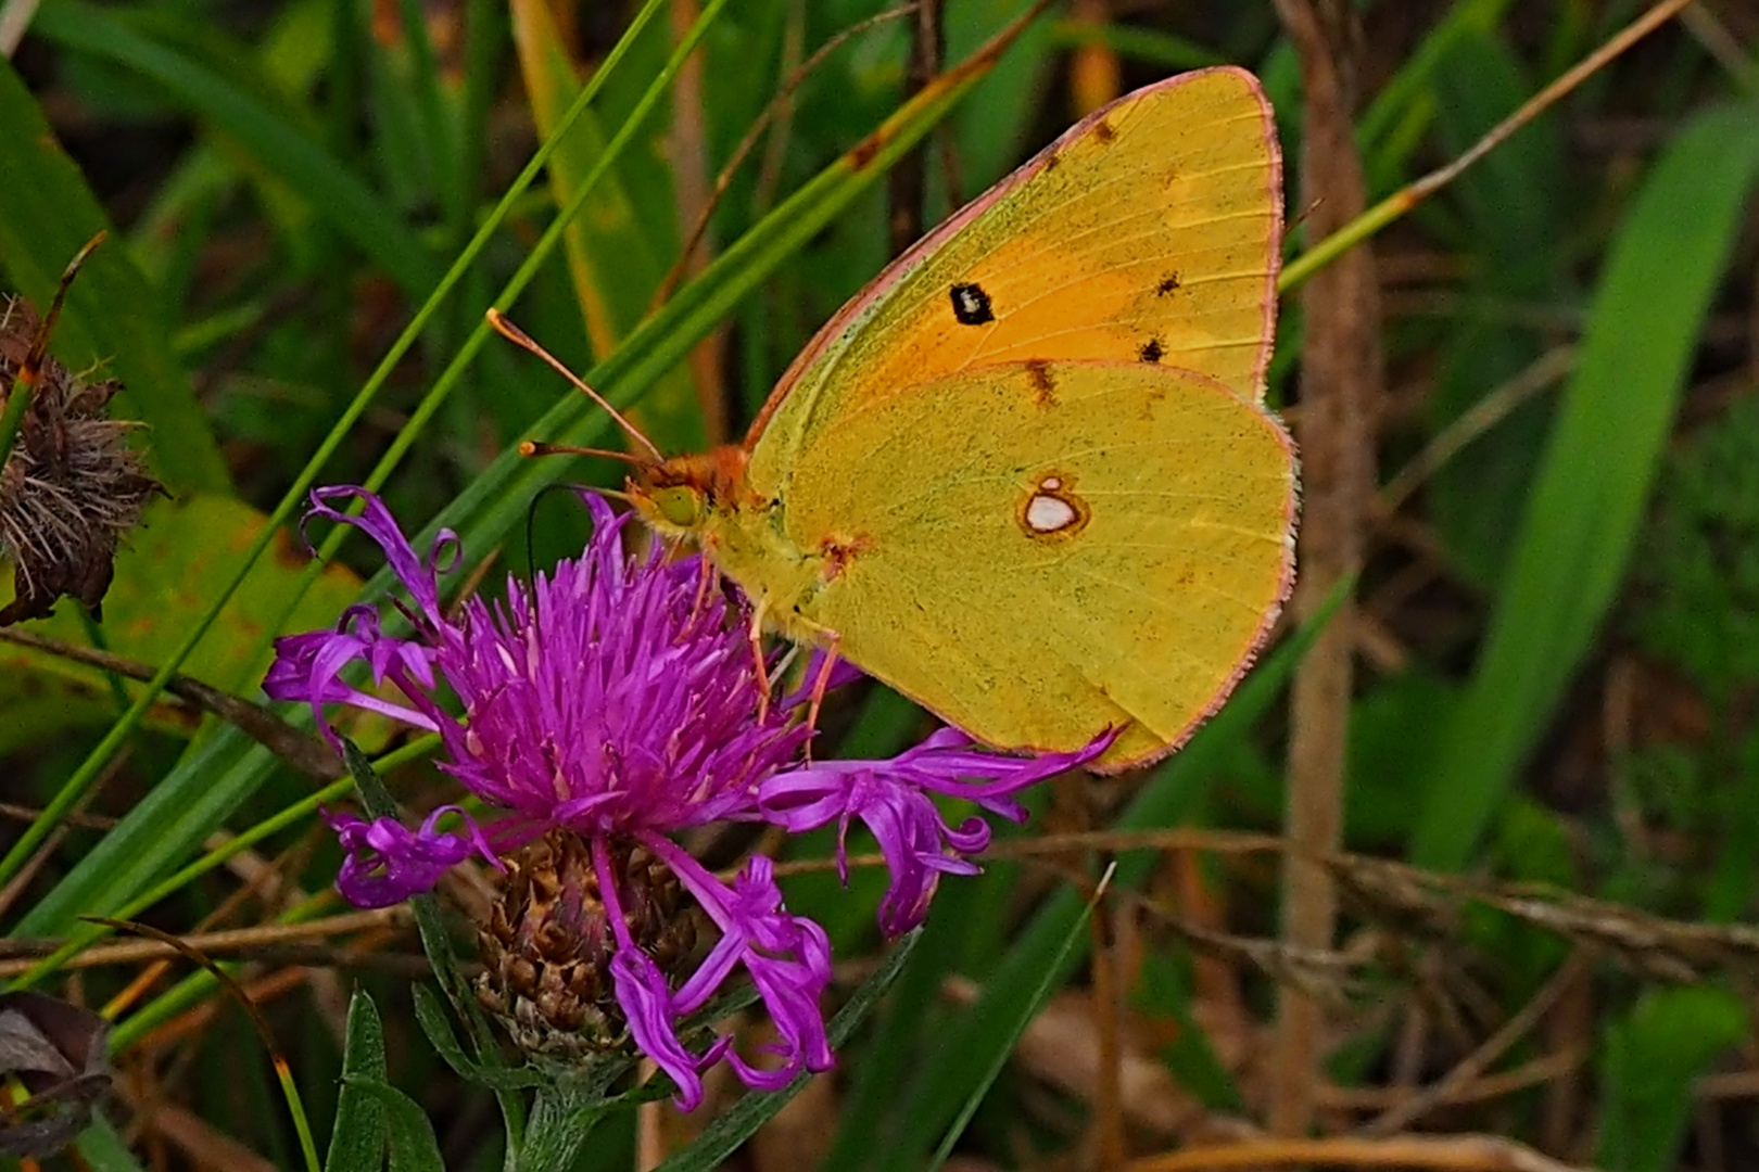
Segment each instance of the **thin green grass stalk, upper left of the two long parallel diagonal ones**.
[{"label": "thin green grass stalk, upper left of the two long parallel diagonal ones", "polygon": [[[558,127],[558,134],[551,135],[551,139],[545,141],[544,146],[540,146],[538,151],[531,156],[531,162],[526,163],[524,170],[519,172],[519,177],[514,179],[512,186],[508,186],[507,193],[496,204],[494,213],[491,213],[491,216],[477,230],[477,234],[471,237],[464,251],[459,253],[457,260],[452,262],[452,267],[447,269],[445,276],[440,279],[440,285],[434,286],[434,292],[427,297],[422,307],[410,320],[410,325],[403,330],[398,341],[392,343],[390,350],[385,353],[385,358],[368,378],[366,385],[361,387],[361,392],[354,397],[354,402],[350,402],[348,408],[336,420],[336,425],[331,429],[329,436],[324,438],[324,443],[318,445],[318,450],[306,462],[304,469],[301,469],[292,487],[281,497],[281,503],[274,506],[274,511],[269,515],[267,524],[252,541],[250,550],[246,552],[237,571],[220,590],[218,597],[215,597],[215,601],[208,606],[208,611],[195,622],[195,626],[183,638],[178,648],[165,659],[165,662],[153,675],[153,678],[142,687],[134,705],[130,705],[128,710],[121,715],[121,719],[118,719],[116,724],[111,726],[109,733],[104,734],[104,738],[86,756],[86,759],[79,764],[79,768],[67,780],[67,784],[62,785],[62,789],[55,794],[49,805],[44,807],[42,814],[37,815],[37,819],[25,829],[19,840],[12,843],[12,849],[7,850],[5,857],[0,859],[0,886],[11,882],[23,870],[25,863],[37,850],[37,847],[42,845],[42,842],[49,836],[49,833],[62,821],[62,817],[74,807],[74,803],[77,803],[84,796],[84,792],[91,787],[91,784],[97,782],[104,766],[109,764],[116,750],[121,749],[123,742],[127,742],[127,738],[141,724],[141,719],[146,715],[148,708],[164,691],[165,684],[171,680],[172,675],[178,673],[178,669],[183,666],[183,661],[188,659],[190,652],[195,650],[195,645],[201,643],[201,640],[208,634],[208,629],[213,626],[215,619],[218,619],[220,610],[232,597],[237,587],[245,582],[245,576],[250,573],[252,566],[257,564],[257,559],[262,557],[262,552],[269,548],[269,543],[274,539],[274,534],[287,522],[287,518],[292,517],[294,510],[304,501],[306,492],[311,488],[313,483],[317,483],[318,473],[329,462],[331,455],[334,455],[336,450],[348,438],[348,434],[354,429],[354,423],[362,415],[366,415],[366,409],[371,406],[380,388],[383,388],[385,381],[390,378],[390,373],[396,369],[398,362],[403,360],[403,355],[408,353],[410,348],[415,344],[415,339],[420,336],[422,329],[426,329],[427,322],[440,311],[440,304],[445,299],[445,295],[450,293],[459,281],[463,281],[464,272],[470,269],[471,264],[475,264],[477,257],[489,246],[489,241],[500,228],[501,220],[505,220],[507,213],[512,209],[514,200],[524,195],[526,188],[529,188],[531,183],[536,181],[538,172],[549,160],[551,151],[554,151],[556,142],[559,142],[566,128],[572,127],[573,121],[582,112],[586,112],[586,107],[598,95],[598,90],[603,84],[602,79],[609,76],[612,65],[617,60],[621,60],[619,49],[623,49],[626,44],[633,40],[633,33],[639,32],[640,26],[654,12],[660,11],[660,7],[661,7],[660,0],[649,0],[642,7],[642,11],[637,14],[635,23],[631,25],[631,33],[624,35],[623,40],[617,42],[617,47],[612,49],[612,54],[605,60],[605,65],[600,67],[600,70],[593,76],[593,83],[589,83],[580,91],[580,97],[563,116],[561,125]],[[9,409],[12,408],[11,401],[7,402],[7,408]],[[427,415],[431,413],[433,411],[429,411]],[[401,448],[396,450],[401,455],[401,452],[406,448],[408,445],[403,445]],[[385,467],[383,460],[382,467]],[[315,582],[317,573],[315,571],[308,573]],[[294,596],[294,601],[288,603],[288,606],[297,604],[301,596],[303,590]]]}]

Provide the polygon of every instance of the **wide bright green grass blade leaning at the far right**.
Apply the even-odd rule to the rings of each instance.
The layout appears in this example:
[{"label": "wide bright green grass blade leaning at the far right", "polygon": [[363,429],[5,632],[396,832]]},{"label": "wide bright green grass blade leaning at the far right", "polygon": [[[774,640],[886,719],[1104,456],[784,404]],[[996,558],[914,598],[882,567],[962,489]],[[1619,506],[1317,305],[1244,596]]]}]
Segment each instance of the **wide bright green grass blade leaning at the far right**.
[{"label": "wide bright green grass blade leaning at the far right", "polygon": [[1754,107],[1712,109],[1668,146],[1618,228],[1478,669],[1432,766],[1420,866],[1471,857],[1624,580],[1755,176]]}]

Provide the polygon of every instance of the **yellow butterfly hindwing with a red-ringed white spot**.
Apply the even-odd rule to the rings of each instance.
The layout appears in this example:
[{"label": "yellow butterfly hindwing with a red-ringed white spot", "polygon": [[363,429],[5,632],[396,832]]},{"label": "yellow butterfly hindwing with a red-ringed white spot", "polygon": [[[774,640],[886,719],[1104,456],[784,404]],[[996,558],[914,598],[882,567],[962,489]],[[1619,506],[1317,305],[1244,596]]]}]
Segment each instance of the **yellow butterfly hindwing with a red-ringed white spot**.
[{"label": "yellow butterfly hindwing with a red-ringed white spot", "polygon": [[1128,726],[1120,768],[1244,671],[1289,587],[1293,510],[1288,436],[1215,380],[1033,360],[843,411],[781,525],[848,553],[800,617],[853,662],[997,745]]}]

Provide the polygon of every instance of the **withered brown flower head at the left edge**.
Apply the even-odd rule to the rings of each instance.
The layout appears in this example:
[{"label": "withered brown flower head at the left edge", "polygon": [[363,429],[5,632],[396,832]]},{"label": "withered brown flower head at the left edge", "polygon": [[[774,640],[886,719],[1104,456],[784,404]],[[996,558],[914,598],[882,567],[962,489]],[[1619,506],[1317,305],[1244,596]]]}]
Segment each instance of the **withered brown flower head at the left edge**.
[{"label": "withered brown flower head at the left edge", "polygon": [[[0,406],[37,334],[23,299],[0,299]],[[127,445],[130,423],[107,415],[116,380],[88,381],[44,357],[18,441],[0,467],[0,557],[12,559],[14,599],[0,627],[42,619],[62,596],[102,617],[116,543],[164,487]]]}]

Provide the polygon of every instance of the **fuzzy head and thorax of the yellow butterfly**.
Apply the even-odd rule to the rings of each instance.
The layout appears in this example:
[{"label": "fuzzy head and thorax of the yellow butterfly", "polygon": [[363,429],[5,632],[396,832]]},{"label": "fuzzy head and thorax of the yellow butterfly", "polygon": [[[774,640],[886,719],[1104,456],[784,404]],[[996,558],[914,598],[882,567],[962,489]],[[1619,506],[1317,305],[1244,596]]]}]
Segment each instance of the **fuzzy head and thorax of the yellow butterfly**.
[{"label": "fuzzy head and thorax of the yellow butterfly", "polygon": [[802,615],[839,571],[836,552],[802,550],[783,529],[783,503],[751,488],[748,453],[726,445],[640,469],[628,494],[642,520],[670,541],[690,541],[732,578],[769,626],[790,638],[823,631]]}]

